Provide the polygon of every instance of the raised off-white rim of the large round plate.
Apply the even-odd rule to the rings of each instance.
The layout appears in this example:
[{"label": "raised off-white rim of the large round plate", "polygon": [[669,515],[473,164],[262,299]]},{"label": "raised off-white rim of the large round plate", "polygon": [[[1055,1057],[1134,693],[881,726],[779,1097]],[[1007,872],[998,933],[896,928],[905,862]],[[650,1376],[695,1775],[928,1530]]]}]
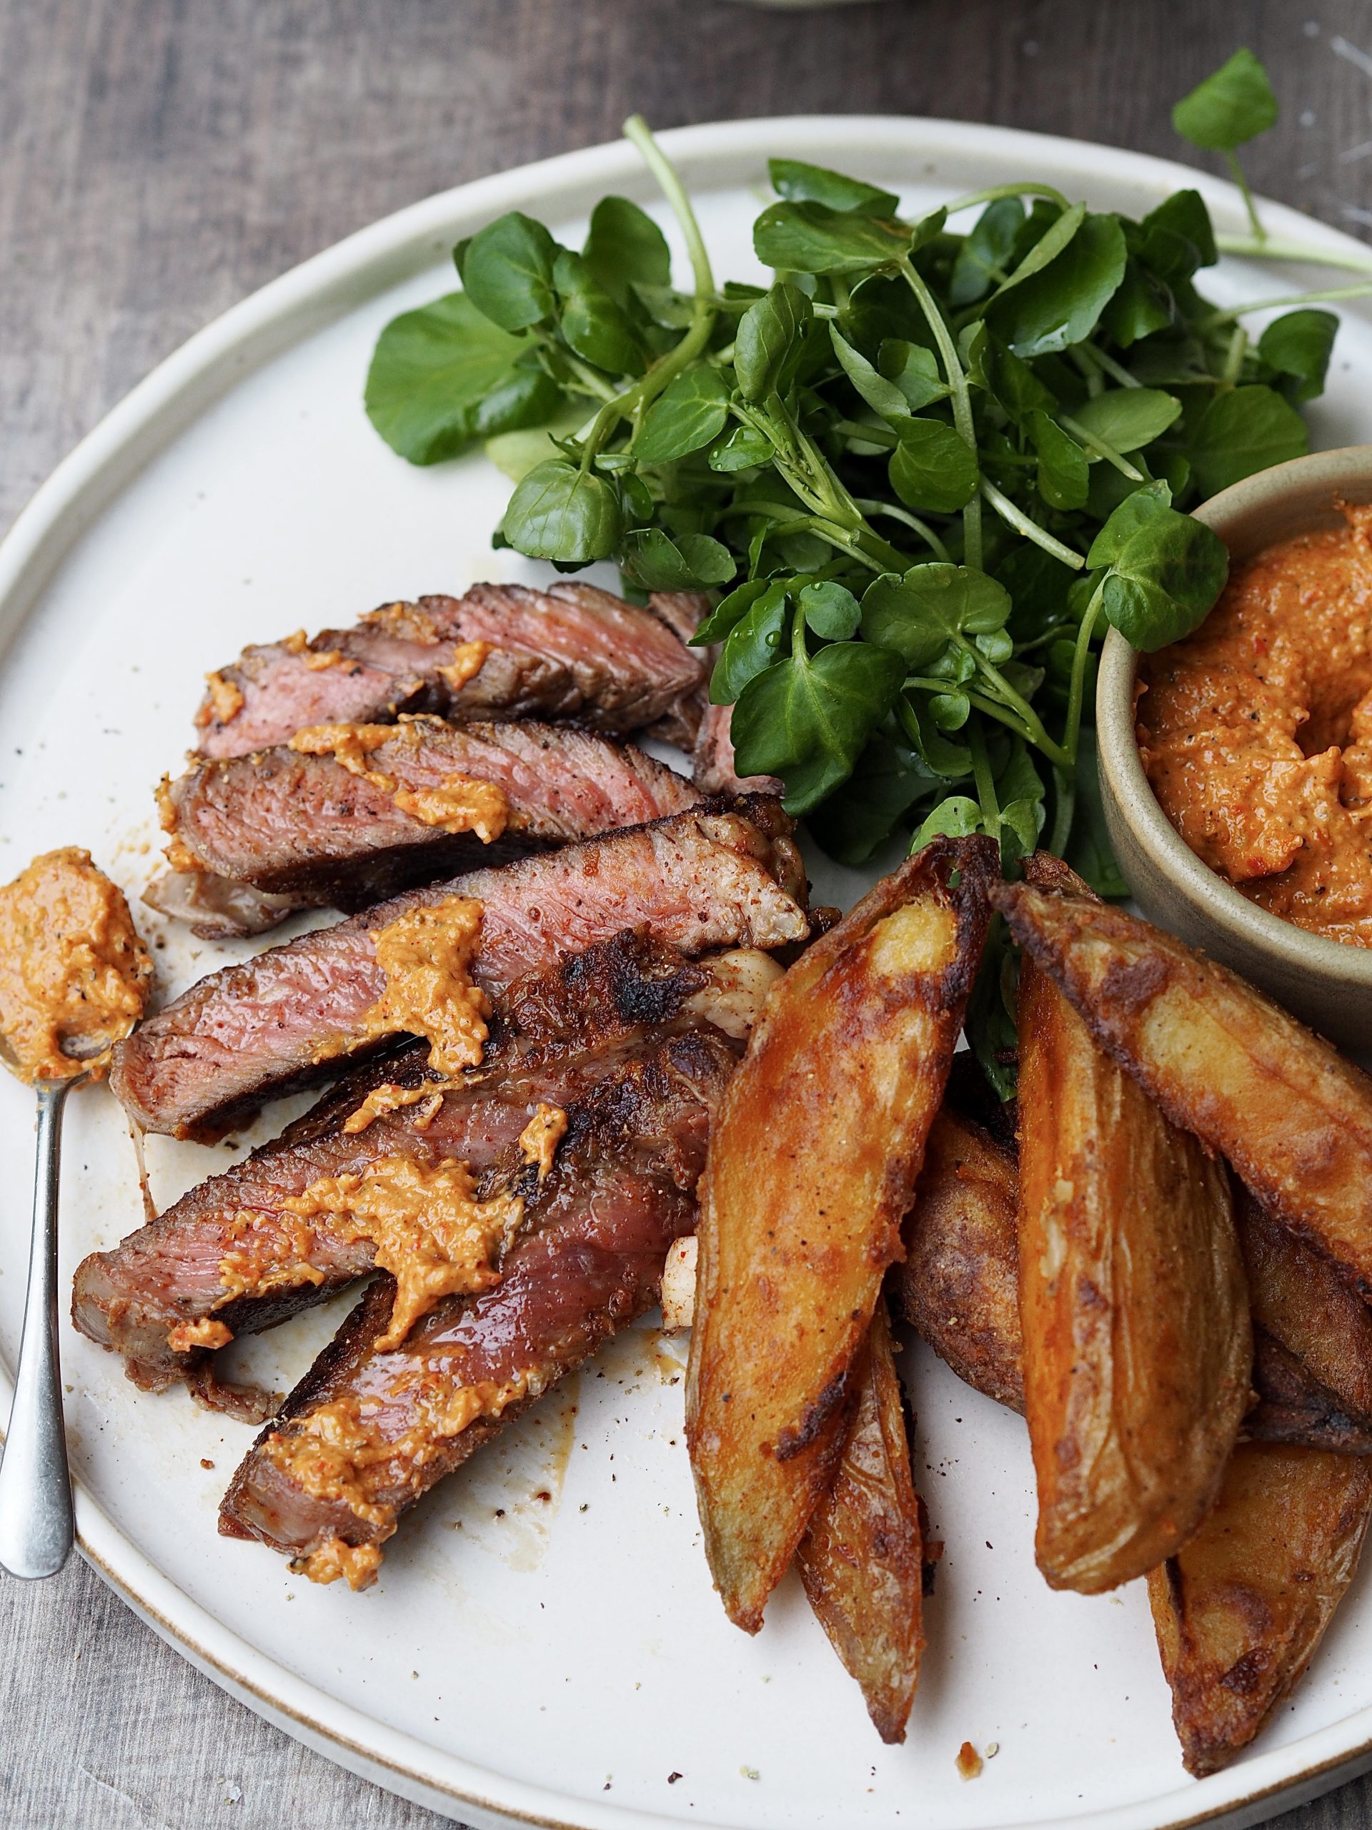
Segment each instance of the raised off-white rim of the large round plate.
[{"label": "raised off-white rim of the large round plate", "polygon": [[[774,115],[671,128],[659,137],[682,168],[688,188],[739,183],[737,167],[743,165],[761,174],[768,154],[796,143],[816,159],[882,170],[891,165],[915,170],[920,157],[953,152],[1012,172],[1059,172],[1087,187],[1145,183],[1156,185],[1160,196],[1180,185],[1195,187],[1226,231],[1246,227],[1238,192],[1206,172],[1019,128],[904,115]],[[0,542],[0,644],[9,646],[86,527],[163,445],[236,381],[435,256],[446,256],[456,236],[483,220],[520,207],[574,214],[607,187],[640,198],[653,194],[637,152],[624,141],[457,185],[346,236],[207,324],[99,421],[16,516]],[[1367,253],[1352,236],[1286,205],[1264,201],[1262,212],[1277,236]],[[11,1396],[9,1367],[0,1360],[5,1411]],[[413,1803],[437,1812],[459,1808],[479,1830],[510,1823],[540,1830],[677,1830],[681,1825],[677,1817],[562,1795],[445,1755],[327,1696],[221,1627],[115,1528],[80,1484],[77,1534],[82,1556],[104,1581],[221,1689],[344,1768]],[[1299,1797],[1315,1797],[1354,1777],[1367,1764],[1372,1764],[1372,1704],[1227,1773],[1142,1803],[1077,1815],[1072,1830],[1259,1823]],[[1002,1825],[1001,1830],[1028,1826]]]}]

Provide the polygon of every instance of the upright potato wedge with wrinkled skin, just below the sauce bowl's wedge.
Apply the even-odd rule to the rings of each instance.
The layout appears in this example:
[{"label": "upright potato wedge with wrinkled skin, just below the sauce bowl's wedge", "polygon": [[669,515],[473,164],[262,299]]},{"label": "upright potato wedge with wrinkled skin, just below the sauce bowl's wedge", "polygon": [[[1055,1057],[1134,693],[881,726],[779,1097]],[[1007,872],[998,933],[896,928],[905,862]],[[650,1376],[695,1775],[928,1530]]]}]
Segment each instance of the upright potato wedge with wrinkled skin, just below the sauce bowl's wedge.
[{"label": "upright potato wedge with wrinkled skin, just below the sauce bowl's wedge", "polygon": [[[1026,875],[1090,895],[1057,858]],[[1019,1321],[1052,1588],[1099,1594],[1195,1532],[1253,1369],[1229,1171],[1019,975]]]}]

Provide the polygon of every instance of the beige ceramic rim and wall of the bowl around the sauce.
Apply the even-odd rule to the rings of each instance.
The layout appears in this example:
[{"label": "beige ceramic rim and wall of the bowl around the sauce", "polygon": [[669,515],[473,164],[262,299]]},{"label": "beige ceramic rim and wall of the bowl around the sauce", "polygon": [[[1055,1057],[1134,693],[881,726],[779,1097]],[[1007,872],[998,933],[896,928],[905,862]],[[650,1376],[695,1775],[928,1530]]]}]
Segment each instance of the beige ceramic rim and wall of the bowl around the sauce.
[{"label": "beige ceramic rim and wall of the bowl around the sauce", "polygon": [[[1295,458],[1196,509],[1235,565],[1293,534],[1337,527],[1339,503],[1372,501],[1372,445]],[[1158,805],[1134,741],[1138,655],[1110,630],[1096,686],[1105,824],[1138,906],[1160,928],[1260,985],[1348,1049],[1372,1049],[1372,948],[1346,946],[1270,915],[1191,851]]]}]

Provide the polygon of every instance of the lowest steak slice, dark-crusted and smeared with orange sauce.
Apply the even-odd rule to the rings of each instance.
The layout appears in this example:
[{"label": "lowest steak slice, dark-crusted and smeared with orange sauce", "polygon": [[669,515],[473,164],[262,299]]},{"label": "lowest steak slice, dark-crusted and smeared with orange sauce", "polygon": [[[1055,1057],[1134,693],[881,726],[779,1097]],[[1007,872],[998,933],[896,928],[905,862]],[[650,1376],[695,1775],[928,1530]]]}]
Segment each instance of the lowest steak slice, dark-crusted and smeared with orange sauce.
[{"label": "lowest steak slice, dark-crusted and smeared with orange sauce", "polygon": [[[531,1232],[501,1283],[448,1297],[390,1352],[375,1349],[393,1296],[379,1277],[249,1451],[220,1530],[296,1557],[381,1545],[401,1512],[648,1310],[668,1246],[695,1226],[710,1118],[732,1067],[723,1043],[682,1036],[578,1100],[552,1173],[541,1186],[523,1175]],[[477,1407],[463,1426],[468,1396]],[[326,1451],[320,1466],[315,1420],[364,1437],[364,1457]],[[349,1579],[366,1576],[364,1561]]]}]

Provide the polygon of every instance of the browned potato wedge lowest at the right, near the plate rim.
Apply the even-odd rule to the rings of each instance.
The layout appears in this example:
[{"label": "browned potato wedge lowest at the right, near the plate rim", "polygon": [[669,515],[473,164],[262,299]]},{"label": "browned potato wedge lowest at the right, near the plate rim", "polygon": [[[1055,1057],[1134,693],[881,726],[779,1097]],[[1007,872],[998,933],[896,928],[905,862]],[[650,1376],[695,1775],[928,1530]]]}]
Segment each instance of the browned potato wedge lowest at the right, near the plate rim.
[{"label": "browned potato wedge lowest at the right, near the plate rim", "polygon": [[1310,1663],[1357,1570],[1372,1462],[1240,1444],[1215,1510],[1149,1574],[1185,1770],[1227,1766]]}]

